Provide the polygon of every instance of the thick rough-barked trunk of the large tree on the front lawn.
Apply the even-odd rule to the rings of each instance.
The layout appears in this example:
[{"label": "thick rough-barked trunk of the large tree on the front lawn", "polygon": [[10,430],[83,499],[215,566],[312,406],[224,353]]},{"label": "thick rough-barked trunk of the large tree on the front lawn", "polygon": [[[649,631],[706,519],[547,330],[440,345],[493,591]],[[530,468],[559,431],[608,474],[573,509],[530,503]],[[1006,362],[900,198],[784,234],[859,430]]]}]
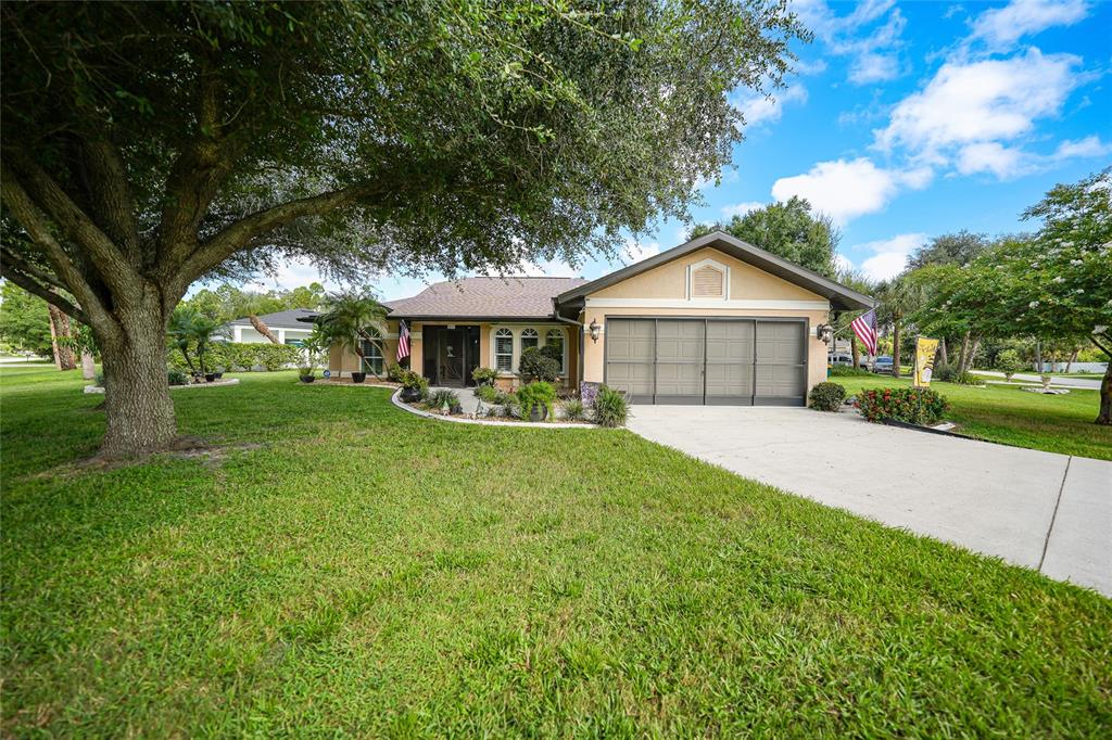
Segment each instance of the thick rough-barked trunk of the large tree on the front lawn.
[{"label": "thick rough-barked trunk of the large tree on the front lawn", "polygon": [[98,337],[108,416],[100,454],[106,458],[163,450],[177,433],[166,379],[166,321],[158,296],[152,292],[117,319],[118,339]]}]

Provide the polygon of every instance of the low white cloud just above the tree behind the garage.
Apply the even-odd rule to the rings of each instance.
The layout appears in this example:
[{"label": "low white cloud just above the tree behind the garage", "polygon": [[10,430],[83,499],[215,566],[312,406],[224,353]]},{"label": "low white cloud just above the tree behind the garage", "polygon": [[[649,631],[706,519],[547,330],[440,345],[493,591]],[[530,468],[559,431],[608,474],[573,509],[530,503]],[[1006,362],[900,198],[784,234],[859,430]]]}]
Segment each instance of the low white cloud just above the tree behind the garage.
[{"label": "low white cloud just above the tree behind the garage", "polygon": [[806,198],[815,210],[845,224],[853,218],[883,209],[902,188],[923,188],[933,177],[930,168],[886,170],[864,157],[818,162],[804,174],[781,178],[772,196],[787,200]]}]

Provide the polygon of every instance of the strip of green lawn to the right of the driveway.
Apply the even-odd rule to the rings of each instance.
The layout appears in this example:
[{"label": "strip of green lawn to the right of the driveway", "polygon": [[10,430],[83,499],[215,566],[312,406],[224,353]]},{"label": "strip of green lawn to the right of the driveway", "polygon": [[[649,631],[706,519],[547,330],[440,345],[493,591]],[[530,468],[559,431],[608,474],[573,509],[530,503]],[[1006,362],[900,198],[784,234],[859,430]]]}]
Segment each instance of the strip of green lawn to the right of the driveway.
[{"label": "strip of green lawn to the right of the driveway", "polygon": [[[909,378],[831,378],[851,394],[864,388],[910,386]],[[1044,396],[1020,386],[989,383],[984,388],[931,383],[946,397],[946,419],[960,424],[963,434],[993,442],[1112,460],[1112,427],[1093,423],[1100,392],[1071,389],[1065,396]]]}]

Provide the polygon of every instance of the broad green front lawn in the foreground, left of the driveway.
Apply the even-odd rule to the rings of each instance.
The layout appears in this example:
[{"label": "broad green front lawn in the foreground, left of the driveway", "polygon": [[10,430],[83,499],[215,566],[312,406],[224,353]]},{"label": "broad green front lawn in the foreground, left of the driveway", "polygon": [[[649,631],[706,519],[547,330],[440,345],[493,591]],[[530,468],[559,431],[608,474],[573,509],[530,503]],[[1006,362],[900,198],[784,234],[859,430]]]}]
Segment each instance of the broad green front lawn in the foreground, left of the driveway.
[{"label": "broad green front lawn in the foreground, left of the driveway", "polygon": [[1112,726],[1112,601],[1091,591],[626,431],[242,378],[173,394],[222,459],[96,470],[70,463],[99,397],[0,371],[4,734]]}]

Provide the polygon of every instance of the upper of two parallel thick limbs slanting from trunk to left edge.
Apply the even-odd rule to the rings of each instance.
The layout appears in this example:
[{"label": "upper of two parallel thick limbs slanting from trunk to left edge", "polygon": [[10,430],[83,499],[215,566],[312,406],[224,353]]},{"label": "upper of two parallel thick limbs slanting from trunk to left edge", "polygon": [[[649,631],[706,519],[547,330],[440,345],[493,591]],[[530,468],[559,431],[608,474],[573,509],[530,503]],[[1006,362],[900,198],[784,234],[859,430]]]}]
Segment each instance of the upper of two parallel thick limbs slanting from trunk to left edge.
[{"label": "upper of two parallel thick limbs slanting from trunk to left edge", "polygon": [[115,297],[138,299],[141,292],[141,278],[136,271],[138,266],[128,262],[108,234],[30,157],[17,153],[14,161],[18,164],[16,169],[24,176],[31,194],[42,204],[42,210],[66,231],[70,240],[89,251],[93,268],[100,273],[105,284],[111,288]]}]

